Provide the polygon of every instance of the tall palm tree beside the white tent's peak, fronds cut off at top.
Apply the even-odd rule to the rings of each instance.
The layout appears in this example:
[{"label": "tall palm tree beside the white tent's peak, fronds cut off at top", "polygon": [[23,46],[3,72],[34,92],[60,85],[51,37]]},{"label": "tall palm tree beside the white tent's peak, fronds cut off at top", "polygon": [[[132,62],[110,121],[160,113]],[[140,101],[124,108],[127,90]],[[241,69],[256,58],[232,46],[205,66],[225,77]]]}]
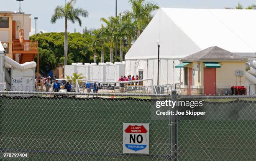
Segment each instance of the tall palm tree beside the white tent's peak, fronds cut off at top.
[{"label": "tall palm tree beside the white tent's peak, fronds cut off at top", "polygon": [[124,18],[131,18],[137,22],[137,38],[141,35],[143,24],[148,24],[153,18],[151,12],[159,9],[159,6],[154,2],[145,2],[145,0],[128,0],[131,4],[132,11],[126,10]]}]

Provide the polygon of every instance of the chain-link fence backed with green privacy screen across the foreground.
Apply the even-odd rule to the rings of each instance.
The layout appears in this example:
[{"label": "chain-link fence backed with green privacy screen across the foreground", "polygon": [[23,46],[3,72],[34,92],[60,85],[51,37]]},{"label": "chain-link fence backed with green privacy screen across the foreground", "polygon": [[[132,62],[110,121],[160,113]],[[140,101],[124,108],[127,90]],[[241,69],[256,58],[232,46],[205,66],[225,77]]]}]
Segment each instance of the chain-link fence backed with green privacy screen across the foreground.
[{"label": "chain-link fence backed with green privacy screen across the foreground", "polygon": [[[34,160],[256,160],[256,96],[177,97],[203,100],[205,108],[223,111],[235,106],[239,111],[231,112],[248,117],[166,120],[153,117],[154,103],[176,100],[176,95],[0,95],[2,153],[28,153]],[[149,123],[148,155],[123,153],[123,123]]]}]

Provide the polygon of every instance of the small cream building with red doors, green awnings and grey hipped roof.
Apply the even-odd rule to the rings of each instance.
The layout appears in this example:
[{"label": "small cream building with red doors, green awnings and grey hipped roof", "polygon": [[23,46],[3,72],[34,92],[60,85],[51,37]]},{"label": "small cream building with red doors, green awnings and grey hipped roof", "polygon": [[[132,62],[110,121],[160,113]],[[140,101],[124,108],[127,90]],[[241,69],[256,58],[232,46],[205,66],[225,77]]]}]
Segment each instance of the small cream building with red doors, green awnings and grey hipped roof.
[{"label": "small cream building with red doors, green awnings and grey hipped roof", "polygon": [[217,46],[181,59],[184,68],[181,94],[231,94],[232,86],[246,86],[247,58]]}]

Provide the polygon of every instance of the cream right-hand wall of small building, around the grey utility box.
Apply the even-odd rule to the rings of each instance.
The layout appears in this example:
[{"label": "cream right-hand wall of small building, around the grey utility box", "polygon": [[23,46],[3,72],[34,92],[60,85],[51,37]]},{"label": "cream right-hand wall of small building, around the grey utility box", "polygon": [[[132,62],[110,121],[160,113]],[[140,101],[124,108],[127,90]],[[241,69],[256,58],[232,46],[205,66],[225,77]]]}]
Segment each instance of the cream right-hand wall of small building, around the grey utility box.
[{"label": "cream right-hand wall of small building, around the grey utility box", "polygon": [[[246,62],[221,62],[221,68],[216,69],[217,88],[245,86]],[[243,70],[243,76],[236,76],[236,70]]]}]

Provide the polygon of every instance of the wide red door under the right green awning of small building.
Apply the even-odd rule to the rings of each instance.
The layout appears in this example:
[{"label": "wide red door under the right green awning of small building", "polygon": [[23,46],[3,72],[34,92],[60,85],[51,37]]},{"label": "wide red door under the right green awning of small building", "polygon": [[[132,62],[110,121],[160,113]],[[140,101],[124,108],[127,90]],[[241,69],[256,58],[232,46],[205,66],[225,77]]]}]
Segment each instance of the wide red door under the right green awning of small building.
[{"label": "wide red door under the right green awning of small building", "polygon": [[204,93],[216,94],[216,68],[204,68]]}]

